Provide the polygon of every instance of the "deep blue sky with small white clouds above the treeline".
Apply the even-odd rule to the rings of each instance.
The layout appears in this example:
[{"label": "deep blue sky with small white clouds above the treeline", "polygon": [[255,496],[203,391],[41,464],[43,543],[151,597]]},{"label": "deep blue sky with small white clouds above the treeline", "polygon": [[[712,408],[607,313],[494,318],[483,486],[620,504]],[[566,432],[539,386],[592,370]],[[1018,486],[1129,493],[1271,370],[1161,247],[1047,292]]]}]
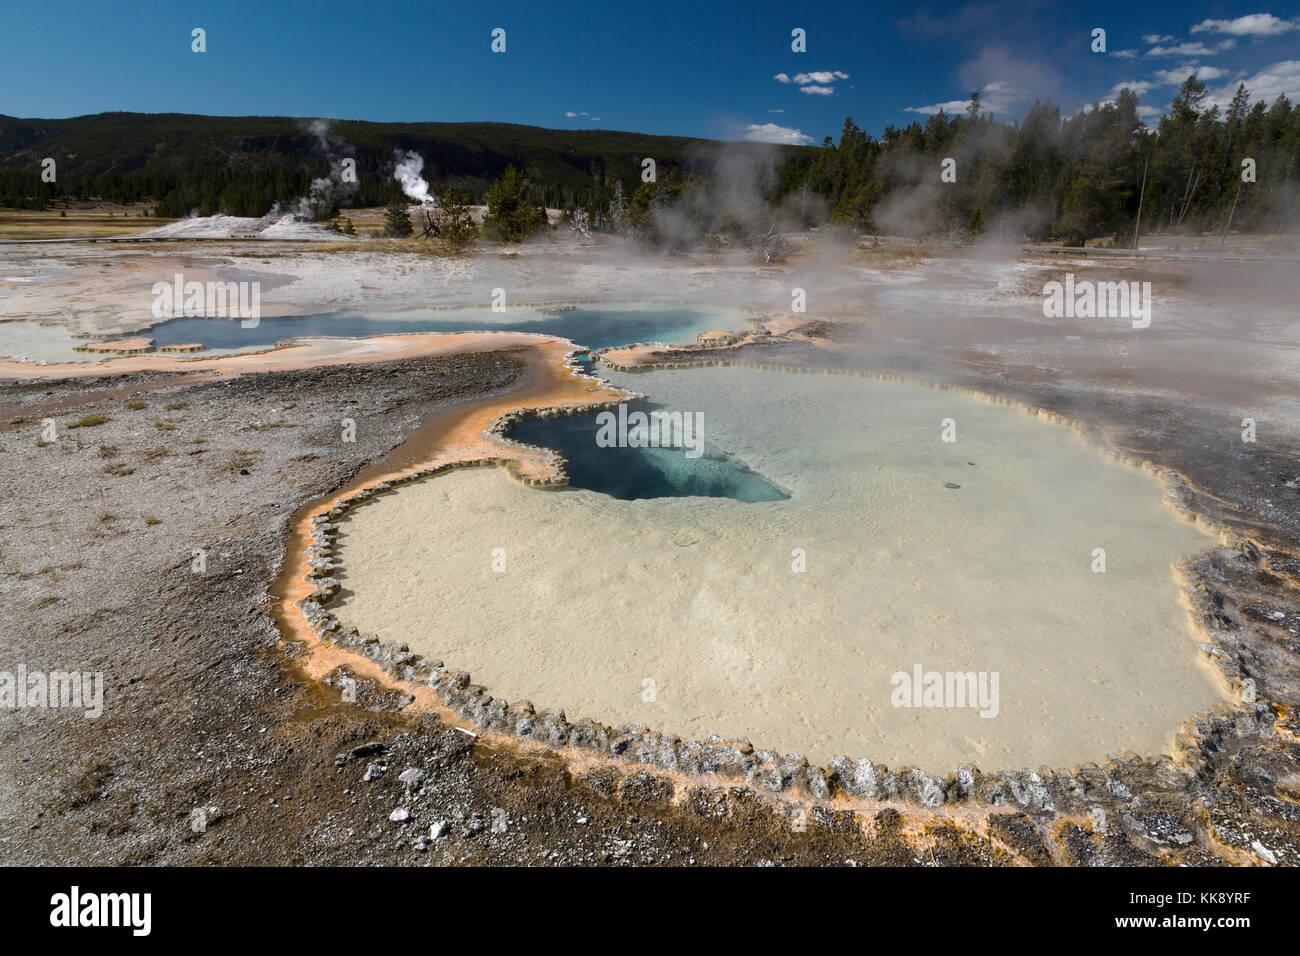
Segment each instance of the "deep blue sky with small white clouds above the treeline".
[{"label": "deep blue sky with small white clouds above the treeline", "polygon": [[[207,52],[191,52],[191,30]],[[490,49],[494,27],[506,52]],[[807,52],[790,49],[790,31]],[[1106,52],[1089,49],[1106,30]],[[0,113],[103,111],[376,121],[491,120],[812,142],[867,133],[980,90],[1019,120],[1138,85],[1154,120],[1199,70],[1300,99],[1290,3],[222,3],[0,8]]]}]

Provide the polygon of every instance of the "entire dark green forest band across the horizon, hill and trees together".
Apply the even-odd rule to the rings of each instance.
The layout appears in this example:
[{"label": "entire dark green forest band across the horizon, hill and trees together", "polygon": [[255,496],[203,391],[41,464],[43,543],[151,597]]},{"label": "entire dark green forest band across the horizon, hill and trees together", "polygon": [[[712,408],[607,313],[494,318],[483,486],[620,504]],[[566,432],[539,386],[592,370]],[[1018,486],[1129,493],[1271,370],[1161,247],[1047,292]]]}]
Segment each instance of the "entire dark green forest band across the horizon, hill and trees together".
[{"label": "entire dark green forest band across the horizon, hill and trees together", "polygon": [[[422,156],[436,194],[456,186],[482,202],[515,165],[532,202],[659,238],[666,224],[680,237],[829,221],[1082,241],[1131,235],[1139,206],[1143,232],[1217,230],[1230,216],[1235,229],[1288,230],[1300,220],[1300,109],[1284,96],[1252,104],[1244,87],[1226,109],[1208,107],[1195,77],[1153,126],[1127,90],[1067,117],[1037,101],[1017,124],[992,118],[972,95],[962,116],[940,112],[879,138],[849,118],[838,143],[828,137],[820,147],[506,124],[338,121],[321,131],[274,117],[0,117],[0,206],[96,196],[147,200],[164,216],[260,216],[309,195],[341,157],[355,159],[356,187],[330,194],[324,216],[398,199],[395,150]],[[40,181],[46,156],[58,163],[56,183]],[[658,164],[655,182],[641,181],[646,157]],[[1243,181],[1247,166],[1253,182]]]}]

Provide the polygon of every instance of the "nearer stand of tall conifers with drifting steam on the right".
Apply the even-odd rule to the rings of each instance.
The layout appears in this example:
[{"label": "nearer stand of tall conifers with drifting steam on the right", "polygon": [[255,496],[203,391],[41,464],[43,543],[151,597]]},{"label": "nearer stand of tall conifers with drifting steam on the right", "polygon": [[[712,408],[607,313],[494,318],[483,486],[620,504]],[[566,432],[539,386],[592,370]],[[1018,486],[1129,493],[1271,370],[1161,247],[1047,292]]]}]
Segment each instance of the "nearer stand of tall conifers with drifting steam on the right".
[{"label": "nearer stand of tall conifers with drifting steam on the right", "polygon": [[[1066,118],[1035,103],[1014,125],[989,118],[978,96],[965,116],[889,126],[880,139],[848,120],[838,144],[786,168],[780,191],[806,185],[832,220],[885,232],[996,232],[1005,220],[1031,235],[1131,234],[1139,198],[1144,232],[1218,229],[1234,202],[1234,228],[1295,228],[1300,109],[1284,96],[1251,105],[1244,88],[1225,112],[1204,99],[1190,78],[1154,129],[1127,90]],[[956,159],[956,183],[940,181],[944,157]],[[1243,183],[1247,159],[1253,183]]]}]

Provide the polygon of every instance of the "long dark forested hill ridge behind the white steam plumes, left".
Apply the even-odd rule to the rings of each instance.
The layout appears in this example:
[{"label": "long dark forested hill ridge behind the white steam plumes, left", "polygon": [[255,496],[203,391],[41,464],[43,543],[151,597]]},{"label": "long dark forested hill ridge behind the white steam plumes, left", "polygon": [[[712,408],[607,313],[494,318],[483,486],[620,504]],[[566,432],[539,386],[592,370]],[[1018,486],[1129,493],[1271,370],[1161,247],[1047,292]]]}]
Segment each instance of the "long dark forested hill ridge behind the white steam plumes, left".
[{"label": "long dark forested hill ridge behind the white steam plumes, left", "polygon": [[[491,122],[335,121],[318,129],[286,117],[0,116],[0,206],[43,208],[65,196],[94,196],[151,200],[160,216],[260,216],[276,202],[308,195],[313,179],[344,157],[355,159],[358,169],[348,204],[382,206],[400,195],[393,179],[394,150],[412,150],[424,157],[424,176],[436,191],[455,185],[481,200],[515,165],[529,177],[537,202],[569,207],[592,204],[593,187],[615,177],[629,186],[640,182],[645,157],[666,168],[689,166],[707,161],[711,148],[708,140],[684,137]],[[47,156],[57,163],[53,183],[40,177]]]}]

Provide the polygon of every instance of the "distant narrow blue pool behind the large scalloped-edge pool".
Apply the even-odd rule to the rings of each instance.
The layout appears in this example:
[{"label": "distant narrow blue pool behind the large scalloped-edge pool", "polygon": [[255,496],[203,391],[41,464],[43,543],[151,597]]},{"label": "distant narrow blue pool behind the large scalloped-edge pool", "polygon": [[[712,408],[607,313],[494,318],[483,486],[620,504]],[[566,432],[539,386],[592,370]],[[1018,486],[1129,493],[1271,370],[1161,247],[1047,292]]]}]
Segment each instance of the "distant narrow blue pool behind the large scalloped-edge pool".
[{"label": "distant narrow blue pool behind the large scalloped-edge pool", "polygon": [[[256,328],[228,319],[170,319],[140,334],[156,346],[199,342],[209,350],[256,349],[295,336],[360,338],[410,332],[537,332],[560,336],[589,349],[633,342],[684,342],[697,332],[716,328],[718,311],[693,308],[575,308],[542,315],[529,310],[521,320],[488,310],[428,312],[424,315],[367,316],[329,313],[264,317]],[[736,324],[734,321],[732,323]]]}]

